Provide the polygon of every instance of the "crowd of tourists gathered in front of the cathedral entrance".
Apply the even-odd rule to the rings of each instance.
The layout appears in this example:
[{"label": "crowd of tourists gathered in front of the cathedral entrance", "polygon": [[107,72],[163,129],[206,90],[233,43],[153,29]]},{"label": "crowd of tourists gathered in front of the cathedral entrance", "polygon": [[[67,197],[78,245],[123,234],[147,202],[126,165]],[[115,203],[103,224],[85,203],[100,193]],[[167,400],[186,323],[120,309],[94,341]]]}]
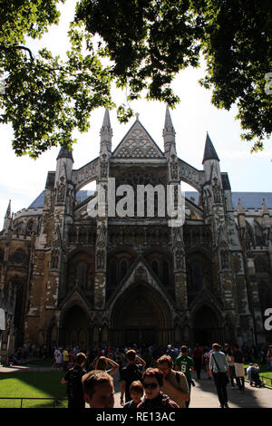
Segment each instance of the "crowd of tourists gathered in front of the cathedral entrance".
[{"label": "crowd of tourists gathered in front of the cathedral entrance", "polygon": [[[269,363],[271,350],[272,345],[267,348]],[[228,408],[228,382],[231,390],[245,392],[247,373],[250,385],[262,386],[259,365],[253,363],[258,353],[238,344],[196,344],[193,348],[185,344],[180,348],[171,344],[139,348],[134,344],[91,353],[76,346],[55,348],[53,354],[57,368],[65,371],[62,383],[67,385],[68,408],[84,408],[86,402],[91,408],[114,407],[115,374],[121,381],[120,405],[124,409],[188,408],[194,371],[199,380],[214,381],[221,408]],[[245,363],[249,364],[247,371]]]}]

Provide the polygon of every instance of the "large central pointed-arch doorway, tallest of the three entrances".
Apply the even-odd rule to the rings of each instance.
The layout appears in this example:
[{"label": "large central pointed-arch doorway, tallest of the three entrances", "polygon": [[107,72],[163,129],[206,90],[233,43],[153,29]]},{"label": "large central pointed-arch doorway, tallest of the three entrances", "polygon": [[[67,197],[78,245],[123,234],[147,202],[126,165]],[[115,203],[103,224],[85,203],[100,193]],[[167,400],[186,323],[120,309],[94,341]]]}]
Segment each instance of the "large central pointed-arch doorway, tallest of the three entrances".
[{"label": "large central pointed-arch doorway, tallest of the three entrances", "polygon": [[170,309],[161,295],[144,284],[127,290],[112,309],[111,344],[158,344],[172,342]]}]

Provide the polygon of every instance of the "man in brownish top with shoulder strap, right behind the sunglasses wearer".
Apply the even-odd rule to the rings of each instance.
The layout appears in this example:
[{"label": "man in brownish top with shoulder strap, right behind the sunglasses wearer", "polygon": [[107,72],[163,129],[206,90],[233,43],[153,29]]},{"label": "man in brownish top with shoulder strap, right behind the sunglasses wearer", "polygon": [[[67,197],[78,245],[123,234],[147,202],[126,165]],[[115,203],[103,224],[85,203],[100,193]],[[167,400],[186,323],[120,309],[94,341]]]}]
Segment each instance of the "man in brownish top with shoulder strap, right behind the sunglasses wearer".
[{"label": "man in brownish top with shoulder strap, right behind the sunglasses wearer", "polygon": [[185,402],[189,401],[189,385],[185,374],[172,370],[173,362],[170,355],[160,356],[157,364],[160,373],[163,374],[163,385],[160,391],[166,393],[180,408],[186,408]]}]

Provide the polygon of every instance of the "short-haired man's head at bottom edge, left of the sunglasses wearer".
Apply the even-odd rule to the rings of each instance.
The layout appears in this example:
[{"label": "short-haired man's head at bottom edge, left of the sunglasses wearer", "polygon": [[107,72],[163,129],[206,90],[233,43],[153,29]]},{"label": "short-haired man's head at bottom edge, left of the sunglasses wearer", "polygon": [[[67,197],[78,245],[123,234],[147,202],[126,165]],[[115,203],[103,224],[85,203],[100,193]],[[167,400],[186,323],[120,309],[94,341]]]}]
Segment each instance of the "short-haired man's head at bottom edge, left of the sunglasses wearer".
[{"label": "short-haired man's head at bottom edge, left of the sunglasses wearer", "polygon": [[83,375],[84,400],[90,408],[113,408],[114,386],[112,376],[102,370]]}]

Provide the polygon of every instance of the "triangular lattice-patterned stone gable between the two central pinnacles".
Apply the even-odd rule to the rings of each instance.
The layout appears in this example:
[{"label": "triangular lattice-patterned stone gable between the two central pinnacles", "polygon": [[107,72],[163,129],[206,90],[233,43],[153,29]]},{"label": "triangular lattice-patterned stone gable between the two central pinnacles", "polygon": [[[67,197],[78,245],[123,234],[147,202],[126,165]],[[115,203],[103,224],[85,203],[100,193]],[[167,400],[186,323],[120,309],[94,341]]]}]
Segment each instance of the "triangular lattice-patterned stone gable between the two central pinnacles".
[{"label": "triangular lattice-patterned stone gable between the two central pinnacles", "polygon": [[119,159],[163,159],[164,155],[141,122],[136,120],[113,151],[112,157]]}]

